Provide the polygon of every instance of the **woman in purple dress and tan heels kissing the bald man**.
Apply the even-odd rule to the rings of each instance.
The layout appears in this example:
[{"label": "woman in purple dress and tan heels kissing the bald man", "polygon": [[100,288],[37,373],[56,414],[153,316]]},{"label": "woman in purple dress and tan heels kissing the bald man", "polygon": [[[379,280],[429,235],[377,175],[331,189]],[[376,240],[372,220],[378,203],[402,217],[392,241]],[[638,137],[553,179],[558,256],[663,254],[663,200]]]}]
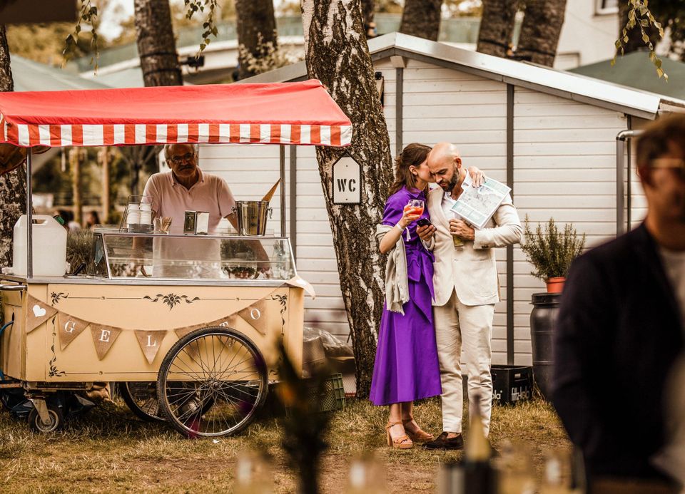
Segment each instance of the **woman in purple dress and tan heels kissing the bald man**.
[{"label": "woman in purple dress and tan heels kissing the bald man", "polygon": [[[417,221],[429,220],[425,207],[430,171],[426,145],[407,145],[395,160],[395,182],[377,228],[380,252],[388,253],[386,298],[378,331],[378,347],[370,400],[390,405],[387,445],[408,449],[413,441],[432,441],[412,415],[413,401],[442,393],[431,301],[433,254],[417,234]],[[422,212],[405,208],[422,201]],[[432,246],[428,246],[432,247]]]}]

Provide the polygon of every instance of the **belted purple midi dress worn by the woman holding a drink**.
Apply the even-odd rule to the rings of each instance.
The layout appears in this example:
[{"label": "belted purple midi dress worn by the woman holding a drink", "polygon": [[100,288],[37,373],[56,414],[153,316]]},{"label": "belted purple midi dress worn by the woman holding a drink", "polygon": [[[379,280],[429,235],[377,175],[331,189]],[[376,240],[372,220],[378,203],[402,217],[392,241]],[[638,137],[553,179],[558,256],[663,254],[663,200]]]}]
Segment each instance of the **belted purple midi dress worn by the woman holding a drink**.
[{"label": "belted purple midi dress worn by the woman holding a drink", "polygon": [[[387,198],[383,225],[392,226],[400,221],[410,199],[420,199],[426,204],[424,192],[402,187]],[[421,217],[429,219],[427,207]],[[407,230],[410,240],[407,240]],[[409,302],[402,306],[404,315],[391,312],[383,305],[369,396],[375,405],[442,394],[431,307],[433,254],[423,247],[416,233],[416,222],[402,232],[402,242],[407,253]]]}]

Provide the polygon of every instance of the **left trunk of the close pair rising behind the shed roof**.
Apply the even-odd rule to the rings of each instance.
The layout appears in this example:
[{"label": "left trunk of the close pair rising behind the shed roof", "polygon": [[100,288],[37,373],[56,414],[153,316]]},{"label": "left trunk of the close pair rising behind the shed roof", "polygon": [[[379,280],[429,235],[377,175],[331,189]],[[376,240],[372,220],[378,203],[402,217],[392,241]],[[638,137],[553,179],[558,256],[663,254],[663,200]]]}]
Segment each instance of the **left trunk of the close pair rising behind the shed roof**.
[{"label": "left trunk of the close pair rising behind the shed roof", "polygon": [[482,4],[476,51],[504,58],[511,48],[518,1],[482,0]]}]

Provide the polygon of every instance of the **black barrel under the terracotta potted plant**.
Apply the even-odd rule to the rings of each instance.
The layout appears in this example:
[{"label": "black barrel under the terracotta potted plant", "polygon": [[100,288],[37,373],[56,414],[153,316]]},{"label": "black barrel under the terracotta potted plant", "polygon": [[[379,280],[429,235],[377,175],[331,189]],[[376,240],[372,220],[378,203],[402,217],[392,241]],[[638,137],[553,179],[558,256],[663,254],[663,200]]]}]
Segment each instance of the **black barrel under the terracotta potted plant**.
[{"label": "black barrel under the terracotta potted plant", "polygon": [[533,347],[533,375],[542,396],[549,399],[552,392],[552,339],[557,326],[560,293],[535,293],[530,313],[530,342]]}]

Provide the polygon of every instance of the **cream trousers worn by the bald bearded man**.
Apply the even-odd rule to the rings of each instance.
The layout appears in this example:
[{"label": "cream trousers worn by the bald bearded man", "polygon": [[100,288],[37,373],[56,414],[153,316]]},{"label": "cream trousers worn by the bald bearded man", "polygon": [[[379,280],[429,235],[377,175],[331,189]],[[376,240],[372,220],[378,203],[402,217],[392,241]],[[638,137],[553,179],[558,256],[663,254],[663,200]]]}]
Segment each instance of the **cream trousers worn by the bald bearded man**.
[{"label": "cream trousers worn by the bald bearded man", "polygon": [[463,349],[468,374],[469,414],[473,415],[475,407],[479,407],[487,436],[492,408],[490,338],[494,304],[469,307],[462,304],[457,298],[457,292],[452,290],[452,297],[447,304],[433,307],[433,315],[442,381],[442,430],[457,433],[462,431]]}]

